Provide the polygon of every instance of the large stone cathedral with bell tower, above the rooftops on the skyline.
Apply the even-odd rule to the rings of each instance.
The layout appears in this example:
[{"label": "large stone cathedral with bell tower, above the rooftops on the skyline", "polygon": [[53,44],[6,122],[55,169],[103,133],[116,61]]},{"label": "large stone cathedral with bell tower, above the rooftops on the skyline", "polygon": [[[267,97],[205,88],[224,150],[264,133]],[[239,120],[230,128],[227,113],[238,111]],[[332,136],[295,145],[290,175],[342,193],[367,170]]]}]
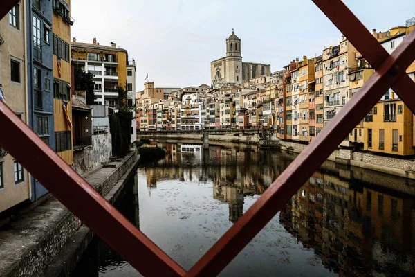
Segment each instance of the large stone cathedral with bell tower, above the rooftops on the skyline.
[{"label": "large stone cathedral with bell tower, above the rooftops on the skyline", "polygon": [[226,39],[226,57],[210,62],[211,82],[214,88],[237,86],[261,75],[270,75],[270,64],[242,62],[241,39],[232,34]]}]

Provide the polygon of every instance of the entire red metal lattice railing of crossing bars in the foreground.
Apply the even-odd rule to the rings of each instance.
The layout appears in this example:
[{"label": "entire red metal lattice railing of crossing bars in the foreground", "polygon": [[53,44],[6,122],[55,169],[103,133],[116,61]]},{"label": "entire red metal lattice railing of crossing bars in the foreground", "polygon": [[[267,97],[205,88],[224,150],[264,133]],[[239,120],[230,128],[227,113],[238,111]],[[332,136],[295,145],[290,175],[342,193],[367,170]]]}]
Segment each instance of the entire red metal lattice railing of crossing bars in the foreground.
[{"label": "entire red metal lattice railing of crossing bars in the foreground", "polygon": [[[405,70],[415,60],[415,32],[389,55],[341,0],[313,0],[376,69],[372,77],[248,211],[189,271],[176,264],[93,190],[13,111],[0,102],[0,143],[50,193],[144,275],[215,276],[254,238],[392,87],[415,111],[415,83]],[[17,0],[3,0],[0,17]]]}]

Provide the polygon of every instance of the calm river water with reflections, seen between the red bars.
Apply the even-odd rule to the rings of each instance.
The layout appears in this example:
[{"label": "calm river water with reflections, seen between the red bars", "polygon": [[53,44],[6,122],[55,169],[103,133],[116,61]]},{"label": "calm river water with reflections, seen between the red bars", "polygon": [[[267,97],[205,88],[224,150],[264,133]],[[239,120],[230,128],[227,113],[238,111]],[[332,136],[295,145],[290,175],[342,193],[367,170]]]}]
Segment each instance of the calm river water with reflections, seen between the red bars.
[{"label": "calm river water with reflections, seen between the red bars", "polygon": [[[159,144],[117,204],[190,269],[294,159],[237,145]],[[415,184],[326,162],[221,276],[415,276]],[[140,256],[140,253],[137,253]],[[73,276],[140,276],[96,239]]]}]

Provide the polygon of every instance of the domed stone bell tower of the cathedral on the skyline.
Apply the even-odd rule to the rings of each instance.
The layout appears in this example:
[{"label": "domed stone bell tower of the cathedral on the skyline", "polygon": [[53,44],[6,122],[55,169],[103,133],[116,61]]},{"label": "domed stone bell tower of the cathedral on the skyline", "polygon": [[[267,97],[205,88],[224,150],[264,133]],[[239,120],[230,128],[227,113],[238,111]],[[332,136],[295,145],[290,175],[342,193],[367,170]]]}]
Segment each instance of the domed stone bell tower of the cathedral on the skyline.
[{"label": "domed stone bell tower of the cathedral on the skyline", "polygon": [[241,39],[232,34],[226,39],[226,77],[228,82],[241,85],[242,81],[242,55],[241,55]]}]

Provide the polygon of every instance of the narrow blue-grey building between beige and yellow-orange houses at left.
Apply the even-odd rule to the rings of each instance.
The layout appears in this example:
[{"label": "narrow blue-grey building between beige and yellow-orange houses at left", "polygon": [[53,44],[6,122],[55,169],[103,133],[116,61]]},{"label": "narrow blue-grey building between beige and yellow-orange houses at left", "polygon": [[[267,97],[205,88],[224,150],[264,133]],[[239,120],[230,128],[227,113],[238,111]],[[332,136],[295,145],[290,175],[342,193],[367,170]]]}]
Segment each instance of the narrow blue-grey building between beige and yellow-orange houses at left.
[{"label": "narrow blue-grey building between beige and yellow-orange houses at left", "polygon": [[[28,125],[55,150],[52,1],[28,0],[26,9]],[[33,162],[36,162],[35,157],[33,157]],[[48,193],[34,177],[32,177],[31,184],[33,202]]]}]

